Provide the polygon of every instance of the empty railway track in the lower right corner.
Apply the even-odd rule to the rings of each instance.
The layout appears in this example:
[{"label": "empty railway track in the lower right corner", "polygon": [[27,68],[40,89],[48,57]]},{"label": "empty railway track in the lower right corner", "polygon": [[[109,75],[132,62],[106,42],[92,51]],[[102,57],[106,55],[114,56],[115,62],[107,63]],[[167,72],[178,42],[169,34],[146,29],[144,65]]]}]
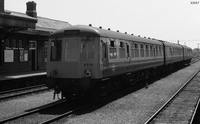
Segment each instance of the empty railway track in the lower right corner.
[{"label": "empty railway track in the lower right corner", "polygon": [[192,124],[200,101],[200,72],[190,79],[145,124]]}]

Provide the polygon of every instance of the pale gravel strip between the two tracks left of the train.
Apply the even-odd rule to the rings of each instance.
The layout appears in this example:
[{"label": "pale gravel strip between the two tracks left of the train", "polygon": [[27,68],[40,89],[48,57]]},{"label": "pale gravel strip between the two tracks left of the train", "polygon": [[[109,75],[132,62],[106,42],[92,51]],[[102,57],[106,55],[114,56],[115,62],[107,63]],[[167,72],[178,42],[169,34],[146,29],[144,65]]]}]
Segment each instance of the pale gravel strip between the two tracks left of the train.
[{"label": "pale gravel strip between the two tracks left of the train", "polygon": [[56,100],[53,100],[53,91],[45,91],[1,101],[0,120]]}]

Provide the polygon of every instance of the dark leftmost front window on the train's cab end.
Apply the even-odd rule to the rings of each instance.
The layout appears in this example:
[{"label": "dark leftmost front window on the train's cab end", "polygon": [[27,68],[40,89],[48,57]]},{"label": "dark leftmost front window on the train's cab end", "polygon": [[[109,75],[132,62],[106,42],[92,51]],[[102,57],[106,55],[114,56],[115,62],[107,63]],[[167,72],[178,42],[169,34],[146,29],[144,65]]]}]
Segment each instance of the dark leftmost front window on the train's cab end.
[{"label": "dark leftmost front window on the train's cab end", "polygon": [[51,41],[51,61],[60,61],[61,60],[61,40]]}]

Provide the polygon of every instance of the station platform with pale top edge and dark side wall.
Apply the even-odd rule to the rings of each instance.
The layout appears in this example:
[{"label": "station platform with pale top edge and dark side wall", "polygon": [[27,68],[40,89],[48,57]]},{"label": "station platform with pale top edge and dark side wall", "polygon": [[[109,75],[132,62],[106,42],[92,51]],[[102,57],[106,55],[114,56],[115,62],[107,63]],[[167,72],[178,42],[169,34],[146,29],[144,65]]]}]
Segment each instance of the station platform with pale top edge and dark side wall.
[{"label": "station platform with pale top edge and dark side wall", "polygon": [[0,75],[0,91],[45,84],[46,75],[44,71]]}]

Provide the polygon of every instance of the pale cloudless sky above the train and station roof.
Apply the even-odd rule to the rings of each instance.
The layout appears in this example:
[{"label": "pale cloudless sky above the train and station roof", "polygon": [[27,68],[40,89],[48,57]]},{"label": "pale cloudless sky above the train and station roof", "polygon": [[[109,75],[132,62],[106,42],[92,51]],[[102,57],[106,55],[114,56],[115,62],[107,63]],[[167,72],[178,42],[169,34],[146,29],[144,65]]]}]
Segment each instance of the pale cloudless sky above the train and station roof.
[{"label": "pale cloudless sky above the train and station roof", "polygon": [[[25,13],[27,1],[5,0],[5,9]],[[198,0],[33,1],[38,16],[200,47]]]}]

